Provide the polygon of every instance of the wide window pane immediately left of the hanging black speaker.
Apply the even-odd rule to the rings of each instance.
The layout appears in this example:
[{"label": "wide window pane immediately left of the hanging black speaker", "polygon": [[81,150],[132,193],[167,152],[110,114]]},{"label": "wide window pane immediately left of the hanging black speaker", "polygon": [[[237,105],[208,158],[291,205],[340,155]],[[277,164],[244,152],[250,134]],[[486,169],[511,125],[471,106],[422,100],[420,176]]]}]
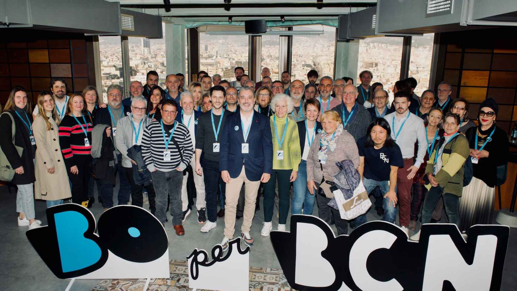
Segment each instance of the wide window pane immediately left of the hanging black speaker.
[{"label": "wide window pane immediately left of the hanging black speaker", "polygon": [[[200,70],[210,76],[220,74],[223,80],[235,81],[235,67],[249,74],[249,37],[245,35],[199,34]],[[197,72],[192,72],[197,74]]]}]

